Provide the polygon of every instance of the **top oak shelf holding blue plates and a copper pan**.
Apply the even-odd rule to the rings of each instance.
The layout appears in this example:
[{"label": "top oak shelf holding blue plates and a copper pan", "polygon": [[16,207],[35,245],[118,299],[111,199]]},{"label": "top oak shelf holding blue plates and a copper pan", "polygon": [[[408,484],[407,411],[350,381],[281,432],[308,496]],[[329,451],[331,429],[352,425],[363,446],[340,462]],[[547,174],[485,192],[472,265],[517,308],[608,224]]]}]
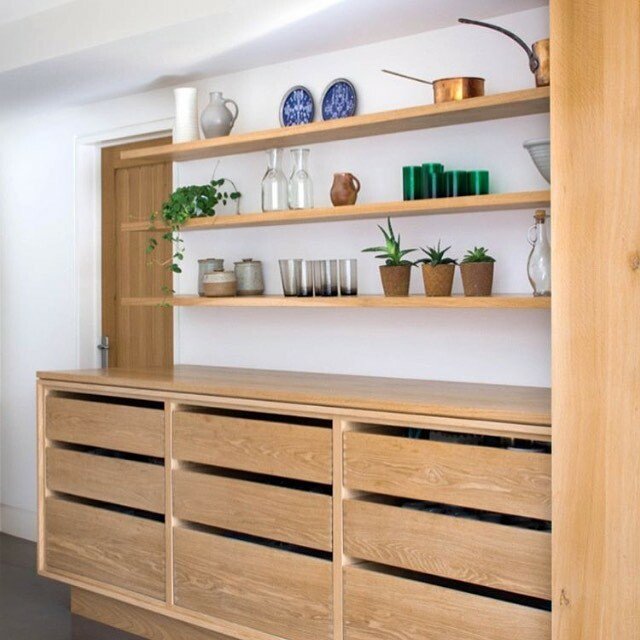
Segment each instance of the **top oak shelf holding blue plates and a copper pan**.
[{"label": "top oak shelf holding blue plates and a copper pan", "polygon": [[201,160],[276,147],[365,138],[484,120],[514,118],[549,111],[549,87],[524,89],[480,98],[381,111],[339,120],[312,122],[238,135],[130,149],[122,160],[157,162]]}]

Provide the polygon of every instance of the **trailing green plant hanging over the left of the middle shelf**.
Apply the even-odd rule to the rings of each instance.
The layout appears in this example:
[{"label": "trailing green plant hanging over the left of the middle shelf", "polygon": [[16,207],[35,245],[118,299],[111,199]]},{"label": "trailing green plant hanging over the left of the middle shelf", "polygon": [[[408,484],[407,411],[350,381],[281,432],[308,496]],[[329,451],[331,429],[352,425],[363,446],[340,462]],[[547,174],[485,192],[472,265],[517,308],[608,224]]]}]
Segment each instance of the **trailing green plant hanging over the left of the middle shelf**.
[{"label": "trailing green plant hanging over the left of the middle shelf", "polygon": [[[160,264],[166,266],[171,272],[182,273],[180,267],[180,262],[184,259],[184,240],[180,234],[182,225],[191,218],[214,216],[218,204],[226,205],[229,200],[240,198],[241,194],[238,191],[227,192],[220,188],[225,181],[225,178],[220,178],[213,179],[203,185],[178,187],[162,204],[160,214],[157,211],[151,214],[149,231],[156,231],[155,223],[158,218],[169,227],[169,230],[162,235],[162,240],[171,243],[173,253],[171,258],[160,262]],[[154,237],[150,237],[146,248],[147,254],[152,253],[157,246],[158,241]]]}]

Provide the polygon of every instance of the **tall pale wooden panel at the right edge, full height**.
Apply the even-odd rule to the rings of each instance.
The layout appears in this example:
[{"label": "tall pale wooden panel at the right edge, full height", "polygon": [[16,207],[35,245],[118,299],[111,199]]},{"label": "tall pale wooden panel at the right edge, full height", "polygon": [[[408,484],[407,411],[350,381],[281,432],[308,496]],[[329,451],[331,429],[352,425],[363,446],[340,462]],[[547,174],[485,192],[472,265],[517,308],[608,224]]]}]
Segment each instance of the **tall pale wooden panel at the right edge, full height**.
[{"label": "tall pale wooden panel at the right edge, full height", "polygon": [[553,638],[640,638],[640,2],[551,0]]}]

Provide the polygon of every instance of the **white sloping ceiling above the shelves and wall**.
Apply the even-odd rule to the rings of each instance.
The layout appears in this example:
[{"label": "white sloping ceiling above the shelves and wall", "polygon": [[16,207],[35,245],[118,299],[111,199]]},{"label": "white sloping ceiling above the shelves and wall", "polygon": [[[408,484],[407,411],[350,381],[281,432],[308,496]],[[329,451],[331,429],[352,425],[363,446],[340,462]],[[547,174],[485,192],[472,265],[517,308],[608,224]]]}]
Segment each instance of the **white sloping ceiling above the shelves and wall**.
[{"label": "white sloping ceiling above the shelves and wall", "polygon": [[547,0],[0,0],[0,113],[62,107]]}]

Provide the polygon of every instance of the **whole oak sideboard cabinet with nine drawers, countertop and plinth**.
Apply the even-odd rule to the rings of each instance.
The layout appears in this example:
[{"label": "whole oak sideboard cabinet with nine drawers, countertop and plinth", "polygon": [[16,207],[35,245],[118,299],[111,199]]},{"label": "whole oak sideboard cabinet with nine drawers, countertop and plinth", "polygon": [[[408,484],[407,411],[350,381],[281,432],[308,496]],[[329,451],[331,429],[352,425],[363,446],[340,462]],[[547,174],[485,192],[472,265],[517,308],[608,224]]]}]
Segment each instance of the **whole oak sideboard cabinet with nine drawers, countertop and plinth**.
[{"label": "whole oak sideboard cabinet with nine drawers, countertop and plinth", "polygon": [[549,640],[548,389],[41,373],[42,575],[148,638]]}]

